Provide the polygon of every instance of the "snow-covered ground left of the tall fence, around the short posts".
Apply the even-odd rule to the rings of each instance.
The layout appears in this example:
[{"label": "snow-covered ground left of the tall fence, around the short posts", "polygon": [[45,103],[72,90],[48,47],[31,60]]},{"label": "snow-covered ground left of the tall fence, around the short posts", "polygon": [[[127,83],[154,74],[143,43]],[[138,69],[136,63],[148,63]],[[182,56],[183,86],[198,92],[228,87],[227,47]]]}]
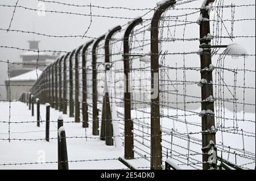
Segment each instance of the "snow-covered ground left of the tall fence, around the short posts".
[{"label": "snow-covered ground left of the tall fence, around the short posts", "polygon": [[[0,103],[0,117],[7,121],[9,117],[9,103]],[[42,120],[45,120],[46,108],[41,105],[40,111]],[[36,113],[36,111],[35,111]],[[51,120],[57,120],[60,112],[51,109]],[[26,104],[11,103],[10,121],[35,121],[36,117],[31,116]],[[64,115],[65,121],[73,121]],[[57,137],[56,123],[50,124],[50,138]],[[85,136],[85,129],[81,123],[64,123],[67,137]],[[32,132],[31,132],[32,131]],[[10,125],[11,138],[36,139],[45,137],[45,124],[36,127],[36,123],[22,123]],[[29,132],[29,133],[28,133]],[[1,123],[0,137],[8,138],[8,124]],[[92,129],[87,130],[88,137],[92,136]],[[118,158],[123,155],[123,148],[106,146],[104,141],[98,139],[67,139],[69,161],[87,159]],[[45,159],[44,159],[45,156]],[[57,161],[57,140],[49,142],[42,141],[0,141],[0,165],[3,163],[28,163],[28,162],[56,162]],[[112,161],[90,161],[71,162],[69,169],[125,169],[126,167],[118,160]],[[0,166],[0,169],[57,169],[57,163],[33,164],[33,165],[9,165]]]}]

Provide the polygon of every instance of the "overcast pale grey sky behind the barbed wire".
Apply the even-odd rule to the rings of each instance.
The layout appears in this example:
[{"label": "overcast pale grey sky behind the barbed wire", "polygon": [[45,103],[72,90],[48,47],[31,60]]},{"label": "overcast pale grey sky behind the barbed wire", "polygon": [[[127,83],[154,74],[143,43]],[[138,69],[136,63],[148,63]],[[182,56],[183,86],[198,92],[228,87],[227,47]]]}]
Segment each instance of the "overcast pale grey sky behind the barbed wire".
[{"label": "overcast pale grey sky behind the barbed wire", "polygon": [[[153,8],[156,5],[158,0],[129,0],[129,1],[122,1],[122,0],[65,0],[60,1],[65,3],[73,3],[78,5],[98,5],[98,6],[123,6],[129,8]],[[197,5],[197,7],[201,6],[201,1],[197,1],[193,3],[193,6]],[[239,3],[241,1],[230,1]],[[253,0],[247,0],[246,4],[255,4]],[[15,5],[16,0],[2,0],[2,5]],[[38,1],[34,0],[19,0],[18,5],[30,7],[31,9],[38,9]],[[58,5],[54,3],[45,3],[46,10],[55,10],[55,11],[69,11],[69,12],[76,12],[81,14],[90,14],[89,7],[72,7],[72,6],[64,6]],[[187,5],[189,6],[189,5]],[[8,28],[11,16],[13,14],[13,7],[0,7],[0,21],[1,26],[0,28]],[[244,9],[243,9],[244,10]],[[184,10],[185,11],[185,10]],[[143,15],[147,11],[129,11],[129,10],[120,10],[120,9],[110,9],[110,10],[103,10],[92,7],[92,14],[94,15],[109,15],[109,16],[125,16],[128,18],[135,18],[137,16]],[[195,15],[194,20],[197,19],[198,15]],[[255,6],[250,11],[236,11],[236,18],[241,16],[242,18],[255,18]],[[230,19],[230,17],[229,17]],[[46,16],[39,16],[38,12],[31,11],[31,10],[24,10],[22,8],[17,8],[13,22],[11,24],[11,29],[14,30],[24,30],[24,31],[33,31],[33,22],[35,24],[35,32],[39,33],[46,33],[49,35],[83,35],[86,31],[87,27],[90,23],[89,16],[79,16],[79,15],[70,15],[70,14],[57,14],[46,12]],[[111,27],[122,25],[127,22],[126,19],[115,19],[115,18],[100,18],[100,17],[93,17],[92,18],[92,26],[90,27],[87,36],[98,37],[105,32],[107,32]],[[255,21],[254,21],[255,22]],[[255,36],[255,24],[247,23],[247,27],[236,26],[236,33],[237,35],[254,35]],[[198,30],[187,30],[187,33],[194,33],[195,36],[199,36]],[[6,45],[10,47],[19,47],[19,48],[28,48],[28,40],[32,40],[32,35],[27,33],[17,33],[17,32],[6,32],[0,31],[0,45]],[[188,36],[189,37],[189,36]],[[53,38],[53,37],[46,37],[46,36],[35,36],[36,40],[40,40],[39,49],[41,50],[63,50],[69,51],[78,47],[79,45],[88,41],[88,39],[81,37],[76,38]],[[255,54],[255,38],[250,39],[253,40],[251,42],[247,42],[247,39],[238,40],[246,48],[249,54]],[[181,42],[182,43],[182,42]],[[230,42],[227,42],[230,43]],[[232,42],[231,42],[232,43]],[[183,45],[181,45],[183,46]],[[193,49],[194,50],[194,49]],[[196,50],[196,49],[195,49]],[[9,60],[11,62],[20,61],[20,54],[23,53],[20,50],[14,49],[3,49],[0,48],[0,59],[1,60]],[[247,68],[251,68],[255,70],[255,56],[250,57],[250,60],[247,61]],[[241,62],[240,62],[241,63]],[[237,67],[241,66],[237,62],[231,62],[228,64],[237,64]],[[193,65],[193,62],[192,62]],[[197,64],[198,66],[200,64]],[[0,83],[3,84],[3,81],[7,79],[7,66],[4,63],[0,62]],[[255,73],[250,74],[250,77],[246,77],[248,85],[255,87]],[[249,97],[253,97],[252,103],[255,103],[255,91],[253,93],[249,92]],[[0,86],[0,94],[1,99],[5,98],[6,96],[6,88],[4,86]],[[254,107],[255,109],[255,107]],[[255,111],[255,110],[254,110]]]}]

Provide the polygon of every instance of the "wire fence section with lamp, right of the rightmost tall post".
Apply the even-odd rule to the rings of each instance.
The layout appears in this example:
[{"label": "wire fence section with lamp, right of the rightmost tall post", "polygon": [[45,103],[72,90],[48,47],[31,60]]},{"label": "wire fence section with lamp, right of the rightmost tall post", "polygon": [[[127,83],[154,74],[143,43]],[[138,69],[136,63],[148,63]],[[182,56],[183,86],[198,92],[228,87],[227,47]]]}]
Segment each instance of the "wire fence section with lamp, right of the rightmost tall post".
[{"label": "wire fence section with lamp, right of the rightmost tall post", "polygon": [[251,28],[250,22],[255,16],[241,13],[246,7],[248,11],[253,7],[250,2],[242,5],[235,1],[217,1],[215,6],[211,22],[213,45],[228,45],[226,49],[213,48],[218,149],[223,158],[229,158],[244,169],[253,169],[255,116],[250,112],[255,110],[255,100],[251,99],[255,94],[255,82],[246,77],[255,77],[255,52],[249,48],[255,39],[243,30]]}]

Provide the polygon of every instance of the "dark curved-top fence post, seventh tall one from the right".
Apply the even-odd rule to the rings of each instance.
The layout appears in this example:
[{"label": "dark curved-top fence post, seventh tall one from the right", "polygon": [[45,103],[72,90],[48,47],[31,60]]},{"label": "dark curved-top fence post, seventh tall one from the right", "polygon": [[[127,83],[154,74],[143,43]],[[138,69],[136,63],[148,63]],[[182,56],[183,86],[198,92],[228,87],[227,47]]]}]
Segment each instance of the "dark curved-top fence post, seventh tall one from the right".
[{"label": "dark curved-top fence post, seventh tall one from the right", "polygon": [[79,103],[79,53],[80,50],[84,47],[81,45],[76,50],[75,54],[75,122],[80,122],[80,103]]}]

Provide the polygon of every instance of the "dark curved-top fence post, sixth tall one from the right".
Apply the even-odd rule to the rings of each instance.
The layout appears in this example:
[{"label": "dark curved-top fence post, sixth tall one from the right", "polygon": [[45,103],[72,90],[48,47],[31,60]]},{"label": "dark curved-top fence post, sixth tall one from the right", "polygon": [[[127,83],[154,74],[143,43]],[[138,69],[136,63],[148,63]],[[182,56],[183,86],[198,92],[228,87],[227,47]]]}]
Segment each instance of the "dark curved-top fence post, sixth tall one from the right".
[{"label": "dark curved-top fence post, sixth tall one from the right", "polygon": [[82,127],[88,128],[88,105],[87,105],[87,76],[86,76],[86,50],[93,43],[89,41],[82,48]]}]

